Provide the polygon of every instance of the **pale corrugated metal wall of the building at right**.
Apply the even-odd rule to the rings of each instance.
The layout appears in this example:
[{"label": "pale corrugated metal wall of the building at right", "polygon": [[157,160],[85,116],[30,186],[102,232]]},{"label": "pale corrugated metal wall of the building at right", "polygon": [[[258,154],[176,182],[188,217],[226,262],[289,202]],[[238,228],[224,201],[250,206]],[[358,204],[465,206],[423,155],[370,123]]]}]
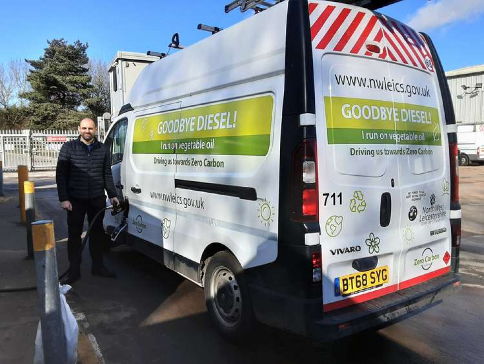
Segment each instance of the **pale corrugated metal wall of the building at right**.
[{"label": "pale corrugated metal wall of the building at right", "polygon": [[[474,90],[476,83],[484,83],[484,72],[453,76],[447,79],[458,123],[484,123],[484,91]],[[464,90],[461,86],[468,86]]]}]

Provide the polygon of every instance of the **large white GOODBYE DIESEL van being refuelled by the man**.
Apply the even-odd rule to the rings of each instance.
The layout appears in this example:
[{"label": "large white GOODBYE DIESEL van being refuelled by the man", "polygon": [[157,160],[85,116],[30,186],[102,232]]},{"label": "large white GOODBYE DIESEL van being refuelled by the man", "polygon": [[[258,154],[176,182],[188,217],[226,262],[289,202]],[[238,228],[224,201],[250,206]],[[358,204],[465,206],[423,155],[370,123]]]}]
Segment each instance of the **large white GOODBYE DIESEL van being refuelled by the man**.
[{"label": "large white GOODBYE DIESEL van being refuelled by the man", "polygon": [[229,337],[332,340],[459,289],[452,101],[397,20],[282,1],[146,66],[106,142],[128,205],[107,232],[203,287]]}]

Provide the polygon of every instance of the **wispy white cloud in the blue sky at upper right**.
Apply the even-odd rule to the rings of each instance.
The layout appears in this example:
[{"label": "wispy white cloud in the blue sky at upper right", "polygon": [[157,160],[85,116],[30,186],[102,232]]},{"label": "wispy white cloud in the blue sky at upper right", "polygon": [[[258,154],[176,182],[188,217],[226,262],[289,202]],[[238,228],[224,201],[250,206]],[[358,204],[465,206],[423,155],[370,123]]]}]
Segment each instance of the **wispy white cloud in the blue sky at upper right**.
[{"label": "wispy white cloud in the blue sky at upper right", "polygon": [[429,31],[484,13],[483,0],[440,0],[428,2],[407,22],[418,31]]}]

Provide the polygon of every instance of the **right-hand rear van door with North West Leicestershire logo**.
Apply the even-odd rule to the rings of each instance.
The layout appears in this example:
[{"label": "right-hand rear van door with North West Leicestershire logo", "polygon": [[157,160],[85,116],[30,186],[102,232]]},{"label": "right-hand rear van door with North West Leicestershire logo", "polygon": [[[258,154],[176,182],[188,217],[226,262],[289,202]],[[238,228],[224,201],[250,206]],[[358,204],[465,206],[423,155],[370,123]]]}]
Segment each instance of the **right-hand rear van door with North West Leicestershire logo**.
[{"label": "right-hand rear van door with North West Leicestershire logo", "polygon": [[408,131],[397,154],[402,199],[402,257],[398,289],[447,273],[451,259],[449,147],[434,61],[420,34],[381,16],[400,50],[390,62],[394,107],[401,111],[397,132]]}]

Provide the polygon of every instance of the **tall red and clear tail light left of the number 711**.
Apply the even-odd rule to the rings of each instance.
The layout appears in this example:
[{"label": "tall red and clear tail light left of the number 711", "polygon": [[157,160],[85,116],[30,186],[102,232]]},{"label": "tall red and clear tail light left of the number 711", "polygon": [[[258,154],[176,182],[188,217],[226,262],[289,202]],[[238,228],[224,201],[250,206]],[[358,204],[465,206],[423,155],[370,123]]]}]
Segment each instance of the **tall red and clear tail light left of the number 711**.
[{"label": "tall red and clear tail light left of the number 711", "polygon": [[304,139],[293,153],[291,218],[317,222],[319,209],[316,139]]}]

